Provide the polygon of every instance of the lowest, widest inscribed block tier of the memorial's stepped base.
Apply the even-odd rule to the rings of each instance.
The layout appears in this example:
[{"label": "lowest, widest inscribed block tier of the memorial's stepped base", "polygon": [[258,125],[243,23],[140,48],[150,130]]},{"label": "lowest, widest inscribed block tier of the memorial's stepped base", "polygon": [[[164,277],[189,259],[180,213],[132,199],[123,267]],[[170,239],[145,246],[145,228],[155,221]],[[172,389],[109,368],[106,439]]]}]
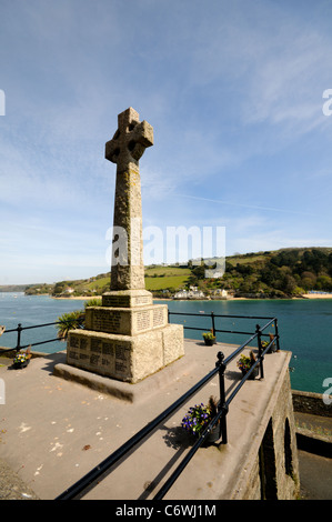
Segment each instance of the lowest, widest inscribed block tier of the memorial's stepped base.
[{"label": "lowest, widest inscribed block tier of the memorial's stepped base", "polygon": [[130,383],[141,381],[182,355],[180,324],[167,324],[135,335],[72,330],[68,337],[68,364]]}]

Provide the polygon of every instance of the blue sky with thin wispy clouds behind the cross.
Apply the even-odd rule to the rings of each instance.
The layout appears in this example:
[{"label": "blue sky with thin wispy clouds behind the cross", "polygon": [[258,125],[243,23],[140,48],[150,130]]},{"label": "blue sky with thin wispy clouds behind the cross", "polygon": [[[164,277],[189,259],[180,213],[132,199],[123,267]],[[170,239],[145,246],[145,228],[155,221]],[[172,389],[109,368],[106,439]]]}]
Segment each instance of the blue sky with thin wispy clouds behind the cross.
[{"label": "blue sky with thin wispy clouds behind the cross", "polygon": [[331,247],[331,26],[324,0],[1,0],[0,284],[110,269],[128,107],[154,129],[144,228]]}]

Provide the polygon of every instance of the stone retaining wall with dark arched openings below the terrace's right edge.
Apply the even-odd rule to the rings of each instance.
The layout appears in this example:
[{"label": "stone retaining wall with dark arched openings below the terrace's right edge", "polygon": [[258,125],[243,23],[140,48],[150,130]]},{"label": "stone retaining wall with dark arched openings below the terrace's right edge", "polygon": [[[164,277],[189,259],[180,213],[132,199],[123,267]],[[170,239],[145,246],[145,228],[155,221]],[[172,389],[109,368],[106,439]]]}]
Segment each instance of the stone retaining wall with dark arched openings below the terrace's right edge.
[{"label": "stone retaining wall with dark arched openings below the terrace's right edge", "polygon": [[[282,357],[284,353],[280,352]],[[300,494],[300,473],[296,434],[290,375],[286,363],[276,374],[273,392],[269,395],[261,419],[251,440],[248,456],[250,465],[243,462],[229,495],[232,500],[294,500]],[[266,359],[270,361],[266,361]],[[274,360],[273,360],[274,358]],[[276,362],[278,355],[266,355],[268,362]],[[272,369],[272,367],[271,367]],[[271,370],[270,370],[271,371]],[[272,373],[272,372],[271,372]],[[268,377],[266,377],[268,379]],[[244,401],[247,410],[250,403]],[[241,484],[241,485],[240,485]]]}]

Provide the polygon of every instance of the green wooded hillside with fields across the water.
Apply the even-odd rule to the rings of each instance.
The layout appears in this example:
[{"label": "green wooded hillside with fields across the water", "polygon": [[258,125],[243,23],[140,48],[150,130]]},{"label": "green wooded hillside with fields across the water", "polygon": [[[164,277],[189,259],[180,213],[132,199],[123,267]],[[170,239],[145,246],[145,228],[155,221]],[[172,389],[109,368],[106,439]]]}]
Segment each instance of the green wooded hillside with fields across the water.
[{"label": "green wooded hillside with fields across the water", "polygon": [[[145,288],[154,297],[171,297],[178,290],[198,287],[209,295],[225,289],[235,297],[288,298],[311,290],[332,292],[332,248],[282,249],[234,254],[225,259],[220,279],[205,279],[203,262],[189,261],[187,267],[152,265],[145,268]],[[28,294],[54,297],[101,295],[110,289],[110,272],[87,280],[60,281],[53,285],[36,284]]]}]

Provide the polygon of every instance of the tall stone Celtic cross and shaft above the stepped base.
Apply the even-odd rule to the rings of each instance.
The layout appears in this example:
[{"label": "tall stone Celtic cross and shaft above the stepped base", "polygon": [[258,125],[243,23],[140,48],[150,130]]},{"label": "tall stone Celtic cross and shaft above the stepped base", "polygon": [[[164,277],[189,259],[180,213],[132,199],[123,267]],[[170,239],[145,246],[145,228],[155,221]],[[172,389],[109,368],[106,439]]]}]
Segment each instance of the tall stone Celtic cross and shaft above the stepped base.
[{"label": "tall stone Celtic cross and shaft above the stepped base", "polygon": [[153,128],[134,109],[118,116],[118,130],[105,144],[105,159],[117,163],[111,290],[144,289],[139,160],[152,144]]}]

